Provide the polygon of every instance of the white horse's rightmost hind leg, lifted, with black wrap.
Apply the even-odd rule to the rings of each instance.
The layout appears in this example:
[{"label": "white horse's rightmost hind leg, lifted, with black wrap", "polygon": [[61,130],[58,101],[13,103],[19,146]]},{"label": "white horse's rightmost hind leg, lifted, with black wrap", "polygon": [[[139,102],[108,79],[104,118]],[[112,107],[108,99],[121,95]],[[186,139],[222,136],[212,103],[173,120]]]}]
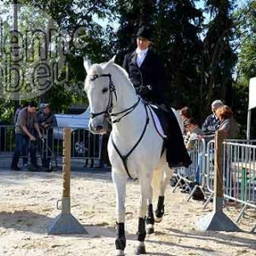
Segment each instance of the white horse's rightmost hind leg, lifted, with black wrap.
[{"label": "white horse's rightmost hind leg, lifted, with black wrap", "polygon": [[157,207],[155,210],[155,222],[160,223],[165,214],[165,193],[166,187],[170,182],[173,170],[171,170],[167,165],[164,166],[164,175],[162,180],[160,180],[160,195],[158,197]]}]

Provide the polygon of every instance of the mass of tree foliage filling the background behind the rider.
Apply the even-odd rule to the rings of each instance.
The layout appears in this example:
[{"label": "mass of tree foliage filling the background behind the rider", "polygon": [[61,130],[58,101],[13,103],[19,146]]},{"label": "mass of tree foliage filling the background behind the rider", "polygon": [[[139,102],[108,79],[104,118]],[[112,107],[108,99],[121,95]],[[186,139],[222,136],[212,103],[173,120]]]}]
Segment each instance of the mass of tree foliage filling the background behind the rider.
[{"label": "mass of tree foliage filling the background behind the rider", "polygon": [[[203,121],[211,102],[222,99],[233,108],[244,137],[248,82],[256,76],[256,2],[250,0],[240,9],[238,0],[206,0],[204,9],[197,9],[196,2],[20,0],[53,17],[68,35],[67,84],[55,84],[38,102],[51,102],[55,112],[65,112],[73,102],[87,102],[83,56],[102,62],[117,55],[117,63],[122,64],[124,55],[136,48],[138,27],[147,24],[152,27],[154,48],[166,64],[167,97],[172,105],[189,106],[195,118]],[[99,20],[109,23],[103,28]],[[62,68],[61,77],[66,74]],[[12,104],[0,100],[0,107],[0,119],[11,120]]]}]

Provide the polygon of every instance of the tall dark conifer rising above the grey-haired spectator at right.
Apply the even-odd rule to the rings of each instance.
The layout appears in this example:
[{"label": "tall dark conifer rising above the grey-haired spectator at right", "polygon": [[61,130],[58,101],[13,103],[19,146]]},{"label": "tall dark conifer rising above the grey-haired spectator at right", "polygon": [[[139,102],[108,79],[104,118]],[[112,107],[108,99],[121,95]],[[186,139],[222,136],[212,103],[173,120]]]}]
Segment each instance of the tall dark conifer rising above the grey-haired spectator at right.
[{"label": "tall dark conifer rising above the grey-haired spectator at right", "polygon": [[237,54],[233,49],[236,40],[233,10],[235,1],[207,0],[206,10],[212,20],[207,24],[204,39],[204,94],[207,106],[212,100],[232,103],[232,75],[235,73]]}]

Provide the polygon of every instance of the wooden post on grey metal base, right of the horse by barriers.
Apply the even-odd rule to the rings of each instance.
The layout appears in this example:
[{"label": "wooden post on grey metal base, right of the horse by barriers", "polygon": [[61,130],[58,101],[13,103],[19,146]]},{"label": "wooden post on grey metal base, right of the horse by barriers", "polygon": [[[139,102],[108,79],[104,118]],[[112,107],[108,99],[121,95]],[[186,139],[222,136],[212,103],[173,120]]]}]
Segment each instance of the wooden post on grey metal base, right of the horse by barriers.
[{"label": "wooden post on grey metal base, right of the horse by barriers", "polygon": [[223,212],[224,200],[224,134],[221,131],[215,133],[214,143],[214,197],[213,210],[207,216],[195,223],[195,229],[200,231],[241,231],[236,224]]}]

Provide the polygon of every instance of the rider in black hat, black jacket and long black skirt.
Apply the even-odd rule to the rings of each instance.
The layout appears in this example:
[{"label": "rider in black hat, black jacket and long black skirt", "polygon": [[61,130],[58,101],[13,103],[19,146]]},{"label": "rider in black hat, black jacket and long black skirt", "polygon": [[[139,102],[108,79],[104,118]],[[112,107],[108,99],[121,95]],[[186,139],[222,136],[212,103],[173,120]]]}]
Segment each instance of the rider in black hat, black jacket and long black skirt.
[{"label": "rider in black hat, black jacket and long black skirt", "polygon": [[166,103],[164,91],[167,87],[166,70],[151,47],[149,27],[142,26],[137,32],[137,49],[125,55],[123,67],[129,74],[137,94],[148,102],[164,105],[168,111],[169,131],[166,159],[171,168],[189,166],[191,160],[183,143],[183,136],[172,108]]}]

